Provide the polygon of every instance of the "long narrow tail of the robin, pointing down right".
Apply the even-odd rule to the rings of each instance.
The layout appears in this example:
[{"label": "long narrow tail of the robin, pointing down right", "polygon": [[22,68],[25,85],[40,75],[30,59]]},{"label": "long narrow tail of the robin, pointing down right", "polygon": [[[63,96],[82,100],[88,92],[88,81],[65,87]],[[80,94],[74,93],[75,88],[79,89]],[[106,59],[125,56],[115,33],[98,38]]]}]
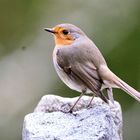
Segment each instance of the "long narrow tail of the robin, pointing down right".
[{"label": "long narrow tail of the robin, pointing down right", "polygon": [[118,78],[116,76],[114,83],[123,91],[125,91],[126,93],[128,93],[130,96],[132,96],[133,98],[135,98],[137,101],[140,102],[140,92],[136,91],[134,88],[132,88],[131,86],[129,86],[127,83],[125,83],[123,80],[121,80],[120,78]]}]

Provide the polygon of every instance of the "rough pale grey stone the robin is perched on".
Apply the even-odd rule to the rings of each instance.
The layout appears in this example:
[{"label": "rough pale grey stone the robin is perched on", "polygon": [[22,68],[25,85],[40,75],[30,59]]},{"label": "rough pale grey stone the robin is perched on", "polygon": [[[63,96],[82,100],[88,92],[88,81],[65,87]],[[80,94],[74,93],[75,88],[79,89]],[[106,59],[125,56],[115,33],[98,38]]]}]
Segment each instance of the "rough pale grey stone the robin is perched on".
[{"label": "rough pale grey stone the robin is perched on", "polygon": [[22,140],[122,140],[122,112],[118,102],[104,103],[83,96],[73,113],[76,98],[46,95],[34,112],[24,118]]}]

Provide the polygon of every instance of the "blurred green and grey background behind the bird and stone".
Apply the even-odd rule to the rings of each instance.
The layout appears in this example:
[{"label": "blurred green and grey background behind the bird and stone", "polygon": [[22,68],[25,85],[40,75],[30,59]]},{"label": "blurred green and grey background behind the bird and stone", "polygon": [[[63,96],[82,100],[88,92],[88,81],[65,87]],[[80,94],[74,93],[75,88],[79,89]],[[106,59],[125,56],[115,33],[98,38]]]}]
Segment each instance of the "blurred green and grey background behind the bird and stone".
[{"label": "blurred green and grey background behind the bird and stone", "polygon": [[[72,23],[96,43],[110,69],[140,91],[140,0],[0,0],[0,139],[19,140],[24,116],[45,94],[79,96],[58,78],[53,37]],[[124,140],[140,139],[140,104],[120,90]]]}]

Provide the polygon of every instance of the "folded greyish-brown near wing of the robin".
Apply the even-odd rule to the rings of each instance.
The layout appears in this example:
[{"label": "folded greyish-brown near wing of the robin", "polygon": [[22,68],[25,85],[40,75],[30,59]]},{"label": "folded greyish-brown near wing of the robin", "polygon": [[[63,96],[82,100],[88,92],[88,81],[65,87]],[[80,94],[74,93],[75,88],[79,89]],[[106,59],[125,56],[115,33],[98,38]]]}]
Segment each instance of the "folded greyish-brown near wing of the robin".
[{"label": "folded greyish-brown near wing of the robin", "polygon": [[107,102],[100,91],[102,80],[95,65],[81,55],[77,50],[59,49],[56,53],[57,63],[72,80],[79,84],[83,83],[96,96]]}]

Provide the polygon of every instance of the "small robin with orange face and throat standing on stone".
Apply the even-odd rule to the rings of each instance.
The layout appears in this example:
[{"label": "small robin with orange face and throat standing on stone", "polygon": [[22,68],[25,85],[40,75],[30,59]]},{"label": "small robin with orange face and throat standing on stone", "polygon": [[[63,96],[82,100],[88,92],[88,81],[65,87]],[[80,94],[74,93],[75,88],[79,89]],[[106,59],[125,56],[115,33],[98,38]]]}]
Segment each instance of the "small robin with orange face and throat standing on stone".
[{"label": "small robin with orange face and throat standing on stone", "polygon": [[81,92],[70,112],[83,94],[93,94],[89,105],[94,96],[114,103],[112,88],[120,88],[140,102],[140,93],[108,68],[99,49],[80,28],[65,23],[44,30],[54,35],[53,63],[57,74],[69,88]]}]

